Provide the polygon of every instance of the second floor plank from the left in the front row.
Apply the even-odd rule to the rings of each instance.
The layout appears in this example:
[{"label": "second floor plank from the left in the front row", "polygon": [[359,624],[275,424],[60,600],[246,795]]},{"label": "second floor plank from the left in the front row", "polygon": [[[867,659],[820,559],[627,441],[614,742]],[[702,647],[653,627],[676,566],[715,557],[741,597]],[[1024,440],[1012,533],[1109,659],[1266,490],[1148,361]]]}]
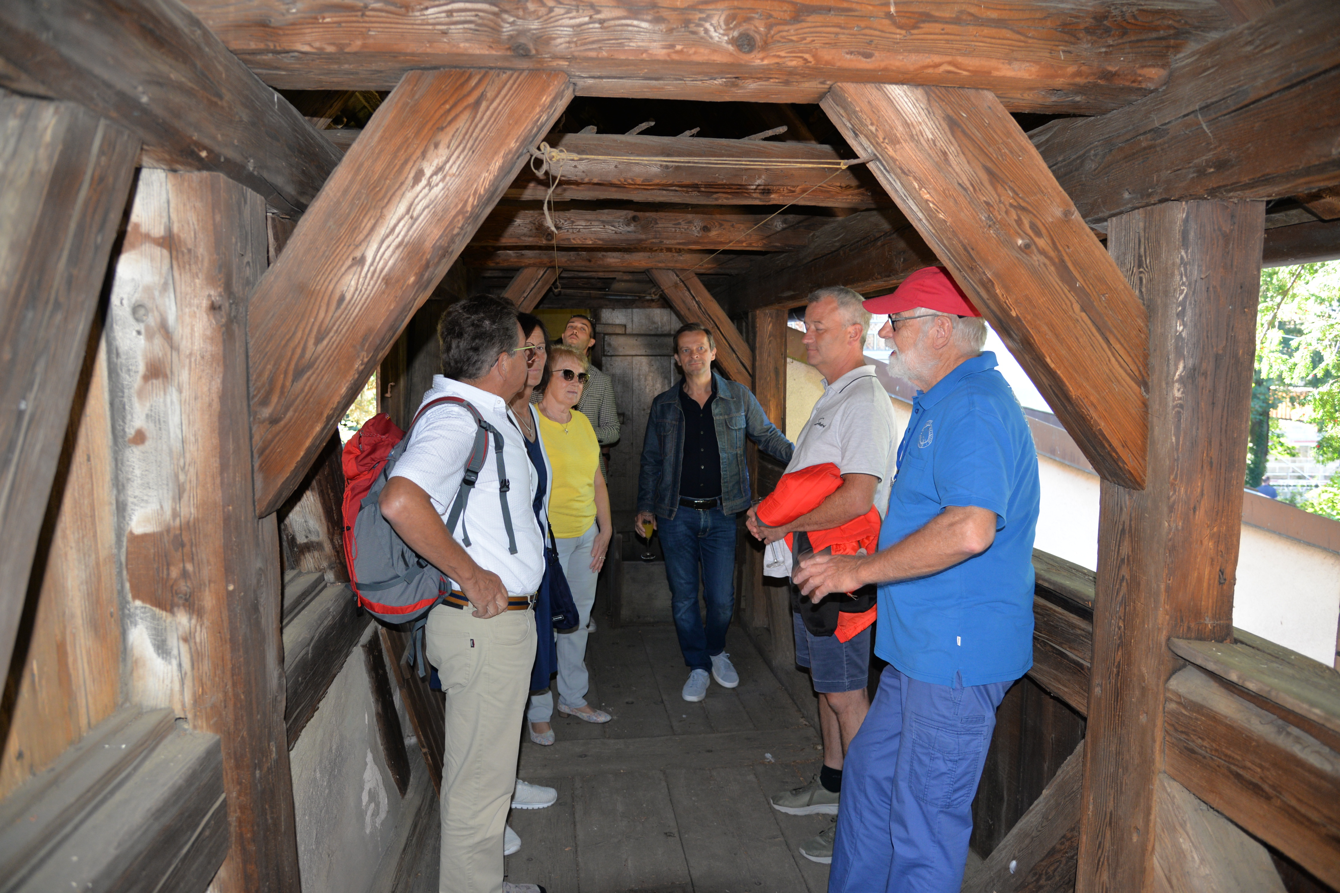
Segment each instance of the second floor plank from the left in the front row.
[{"label": "second floor plank from the left in the front row", "polygon": [[575,809],[580,889],[693,893],[662,773],[578,778]]}]

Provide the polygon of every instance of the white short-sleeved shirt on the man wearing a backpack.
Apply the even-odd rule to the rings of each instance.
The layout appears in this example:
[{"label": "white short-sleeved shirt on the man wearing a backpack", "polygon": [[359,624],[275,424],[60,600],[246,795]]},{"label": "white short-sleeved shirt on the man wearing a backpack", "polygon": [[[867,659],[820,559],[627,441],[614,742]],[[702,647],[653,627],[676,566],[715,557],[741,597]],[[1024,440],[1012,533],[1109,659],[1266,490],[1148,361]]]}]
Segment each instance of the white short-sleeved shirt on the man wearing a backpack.
[{"label": "white short-sleeved shirt on the man wearing a backpack", "polygon": [[[469,400],[485,422],[503,432],[503,465],[509,482],[507,503],[516,536],[516,554],[508,552],[492,442],[474,493],[456,525],[456,541],[477,565],[503,580],[508,594],[529,594],[540,588],[544,577],[544,537],[531,509],[537,481],[521,431],[503,398],[442,375],[433,376],[433,387],[423,395],[419,407],[444,396]],[[458,406],[433,407],[414,426],[410,442],[391,471],[393,478],[405,478],[423,487],[444,523],[465,479],[477,427],[469,411]],[[470,536],[468,546],[461,536],[462,525]]]}]

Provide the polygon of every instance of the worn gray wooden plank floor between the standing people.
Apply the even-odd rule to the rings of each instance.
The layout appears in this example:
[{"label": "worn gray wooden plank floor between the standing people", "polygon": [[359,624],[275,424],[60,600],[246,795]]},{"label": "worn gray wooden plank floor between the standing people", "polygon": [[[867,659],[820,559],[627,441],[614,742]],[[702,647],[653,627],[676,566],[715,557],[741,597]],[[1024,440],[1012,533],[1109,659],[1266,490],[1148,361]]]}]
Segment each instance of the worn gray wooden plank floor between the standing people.
[{"label": "worn gray wooden plank floor between the standing people", "polygon": [[[603,617],[602,617],[603,620]],[[770,794],[819,771],[819,735],[753,644],[732,628],[740,687],[716,683],[690,704],[674,627],[591,636],[587,700],[614,715],[592,726],[555,714],[557,743],[523,740],[519,777],[559,791],[544,810],[513,810],[521,850],[507,878],[549,893],[821,893],[828,866],[796,850],[829,822],[783,815]],[[431,789],[389,889],[437,890]]]}]

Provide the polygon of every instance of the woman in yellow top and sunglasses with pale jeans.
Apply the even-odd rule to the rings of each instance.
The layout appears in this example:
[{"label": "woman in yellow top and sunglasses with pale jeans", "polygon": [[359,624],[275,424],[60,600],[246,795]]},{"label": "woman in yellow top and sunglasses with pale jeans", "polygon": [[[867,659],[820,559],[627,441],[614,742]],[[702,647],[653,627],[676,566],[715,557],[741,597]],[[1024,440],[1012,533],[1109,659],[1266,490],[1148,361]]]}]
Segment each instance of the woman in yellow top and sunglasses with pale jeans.
[{"label": "woman in yellow top and sunglasses with pale jeans", "polygon": [[[610,494],[600,474],[600,443],[591,422],[575,407],[587,382],[586,356],[567,344],[549,347],[549,384],[540,400],[540,439],[549,457],[553,481],[549,490],[549,525],[559,546],[559,561],[572,589],[579,624],[575,632],[557,640],[559,712],[588,723],[607,723],[610,714],[586,703],[590,679],[586,643],[595,578],[604,566],[614,529],[610,523]],[[531,696],[527,719],[531,740],[553,743],[553,695]]]}]

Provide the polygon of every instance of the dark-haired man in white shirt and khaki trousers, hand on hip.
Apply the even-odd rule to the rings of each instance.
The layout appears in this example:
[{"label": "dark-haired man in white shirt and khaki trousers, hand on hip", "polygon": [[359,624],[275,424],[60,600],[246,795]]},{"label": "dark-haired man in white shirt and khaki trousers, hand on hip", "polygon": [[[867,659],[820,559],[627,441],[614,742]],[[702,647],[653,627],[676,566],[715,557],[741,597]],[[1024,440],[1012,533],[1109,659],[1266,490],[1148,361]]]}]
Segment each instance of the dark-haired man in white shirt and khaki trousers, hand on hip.
[{"label": "dark-haired man in white shirt and khaki trousers, hand on hip", "polygon": [[503,835],[535,661],[532,605],[544,576],[544,538],[531,509],[537,482],[508,411],[525,386],[525,339],[512,304],[486,295],[454,304],[438,337],[444,375],[433,378],[423,403],[460,396],[474,406],[503,434],[508,481],[504,490],[490,442],[453,537],[445,519],[477,428],[466,410],[441,404],[414,426],[381,497],[382,514],[406,545],[452,578],[454,596],[429,612],[425,639],[446,694],[438,889],[535,893],[536,885],[503,881]]}]

